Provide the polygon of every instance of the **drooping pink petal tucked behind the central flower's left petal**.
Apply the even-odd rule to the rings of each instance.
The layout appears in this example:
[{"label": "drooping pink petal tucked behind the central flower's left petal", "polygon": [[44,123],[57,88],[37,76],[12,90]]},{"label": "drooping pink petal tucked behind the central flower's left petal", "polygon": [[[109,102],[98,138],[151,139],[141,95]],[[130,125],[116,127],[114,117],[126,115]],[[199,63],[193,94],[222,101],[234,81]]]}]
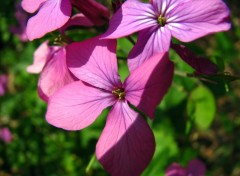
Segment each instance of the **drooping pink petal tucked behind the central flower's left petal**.
[{"label": "drooping pink petal tucked behind the central flower's left petal", "polygon": [[71,75],[66,66],[65,48],[61,48],[53,54],[41,72],[38,81],[39,96],[48,101],[48,98],[57,90],[74,80],[76,78]]}]

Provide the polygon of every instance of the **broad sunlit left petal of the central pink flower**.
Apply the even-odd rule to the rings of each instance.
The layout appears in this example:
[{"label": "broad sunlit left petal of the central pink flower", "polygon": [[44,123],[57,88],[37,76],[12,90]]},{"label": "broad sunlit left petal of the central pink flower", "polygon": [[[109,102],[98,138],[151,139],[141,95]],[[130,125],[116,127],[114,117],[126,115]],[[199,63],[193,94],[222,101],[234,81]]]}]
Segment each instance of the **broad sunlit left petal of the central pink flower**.
[{"label": "broad sunlit left petal of the central pink flower", "polygon": [[110,93],[75,81],[50,98],[46,119],[58,128],[80,130],[92,124],[114,102]]}]

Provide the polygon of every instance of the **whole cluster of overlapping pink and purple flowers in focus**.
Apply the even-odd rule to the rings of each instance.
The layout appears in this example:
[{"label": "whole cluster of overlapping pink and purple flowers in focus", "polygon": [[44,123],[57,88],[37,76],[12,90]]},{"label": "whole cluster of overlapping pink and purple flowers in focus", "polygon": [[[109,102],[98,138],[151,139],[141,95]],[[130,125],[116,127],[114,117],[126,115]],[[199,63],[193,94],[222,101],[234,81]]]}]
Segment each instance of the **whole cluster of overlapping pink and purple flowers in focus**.
[{"label": "whole cluster of overlapping pink and purple flowers in focus", "polygon": [[[114,176],[140,175],[152,159],[155,140],[141,114],[153,119],[171,85],[174,65],[169,49],[198,73],[217,72],[210,61],[171,43],[171,37],[190,42],[230,28],[229,10],[222,0],[115,1],[112,17],[111,10],[95,0],[22,0],[21,5],[34,13],[25,30],[30,41],[55,30],[60,33],[55,41],[59,45],[43,42],[33,65],[27,67],[29,73],[40,73],[38,92],[48,103],[47,122],[81,130],[111,107],[96,156]],[[73,26],[98,29],[108,22],[105,33],[87,40],[67,36]],[[128,55],[130,74],[122,83],[116,39],[135,32],[138,39]]]}]

